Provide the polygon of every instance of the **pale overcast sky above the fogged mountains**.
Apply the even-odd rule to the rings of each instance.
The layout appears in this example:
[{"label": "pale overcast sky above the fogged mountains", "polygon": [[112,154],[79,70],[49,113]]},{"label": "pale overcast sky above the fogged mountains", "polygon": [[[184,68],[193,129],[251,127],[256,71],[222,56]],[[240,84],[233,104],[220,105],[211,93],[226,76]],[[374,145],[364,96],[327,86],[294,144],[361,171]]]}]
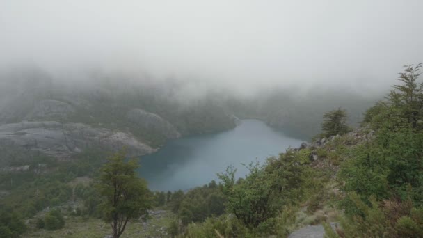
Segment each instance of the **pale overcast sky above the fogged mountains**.
[{"label": "pale overcast sky above the fogged mountains", "polygon": [[422,0],[1,0],[0,66],[389,85],[423,61],[422,11]]}]

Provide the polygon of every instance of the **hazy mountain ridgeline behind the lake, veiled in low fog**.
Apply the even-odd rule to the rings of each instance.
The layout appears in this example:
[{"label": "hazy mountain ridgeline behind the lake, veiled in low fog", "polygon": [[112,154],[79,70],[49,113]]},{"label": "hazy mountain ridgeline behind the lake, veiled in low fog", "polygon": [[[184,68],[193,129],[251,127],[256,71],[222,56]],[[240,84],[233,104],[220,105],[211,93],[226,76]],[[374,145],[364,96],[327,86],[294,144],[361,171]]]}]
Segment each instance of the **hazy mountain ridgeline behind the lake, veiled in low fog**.
[{"label": "hazy mountain ridgeline behind the lake, veiled in low fog", "polygon": [[[60,120],[125,129],[131,128],[122,122],[127,111],[139,108],[168,120],[185,135],[232,128],[231,117],[236,116],[264,120],[291,136],[308,140],[319,132],[319,118],[325,111],[342,106],[349,113],[351,125],[357,125],[365,109],[383,98],[374,91],[358,93],[342,86],[281,86],[243,94],[195,80],[100,70],[63,76],[26,67],[2,72],[0,79],[1,123]],[[66,116],[29,115],[40,100],[58,100],[76,110]],[[163,138],[158,143],[163,143]]]}]

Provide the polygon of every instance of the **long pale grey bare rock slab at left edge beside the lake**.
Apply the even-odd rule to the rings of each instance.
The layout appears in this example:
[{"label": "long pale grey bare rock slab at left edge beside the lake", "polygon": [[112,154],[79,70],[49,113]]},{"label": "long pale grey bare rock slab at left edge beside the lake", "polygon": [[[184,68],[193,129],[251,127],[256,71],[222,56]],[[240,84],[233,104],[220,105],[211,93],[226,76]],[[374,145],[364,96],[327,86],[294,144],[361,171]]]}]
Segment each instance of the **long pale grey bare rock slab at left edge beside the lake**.
[{"label": "long pale grey bare rock slab at left edge beside the lake", "polygon": [[0,147],[38,151],[59,159],[86,148],[96,147],[116,151],[126,147],[131,155],[154,152],[131,134],[94,128],[81,123],[54,121],[20,122],[0,125]]}]

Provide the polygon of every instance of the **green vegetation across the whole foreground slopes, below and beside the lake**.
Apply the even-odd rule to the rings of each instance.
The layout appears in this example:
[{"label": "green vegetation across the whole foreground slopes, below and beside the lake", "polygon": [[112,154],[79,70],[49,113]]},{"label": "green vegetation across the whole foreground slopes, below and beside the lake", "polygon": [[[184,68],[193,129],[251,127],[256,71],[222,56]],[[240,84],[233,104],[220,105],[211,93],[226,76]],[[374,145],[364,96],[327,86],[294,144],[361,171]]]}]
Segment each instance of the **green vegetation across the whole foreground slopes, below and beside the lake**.
[{"label": "green vegetation across the whole foreground slopes, below and beside the lake", "polygon": [[[264,164],[247,165],[250,173],[238,180],[230,167],[218,173],[218,182],[203,187],[152,192],[128,173],[119,180],[122,186],[141,188],[142,196],[124,207],[99,206],[101,195],[110,191],[99,193],[94,186],[111,181],[104,177],[109,170],[133,170],[134,162],[124,163],[124,156],[103,170],[102,152],[83,153],[71,161],[40,157],[29,171],[1,174],[1,189],[8,193],[1,193],[0,237],[41,230],[58,234],[55,229],[67,227],[68,221],[76,226],[83,221],[97,224],[104,216],[113,221],[107,215],[118,209],[130,212],[130,218],[143,214],[144,221],[152,214],[147,212],[149,200],[154,209],[173,213],[163,217],[166,234],[172,237],[287,237],[315,224],[324,224],[328,237],[423,237],[420,68],[407,66],[385,100],[367,110],[360,127],[349,132],[346,113],[329,111],[319,135],[324,138],[289,148]],[[88,181],[76,182],[82,176]],[[137,205],[141,210],[133,209]],[[62,221],[64,215],[69,218]],[[128,227],[141,227],[143,221],[128,219]],[[327,224],[332,221],[337,222],[335,230]]]}]

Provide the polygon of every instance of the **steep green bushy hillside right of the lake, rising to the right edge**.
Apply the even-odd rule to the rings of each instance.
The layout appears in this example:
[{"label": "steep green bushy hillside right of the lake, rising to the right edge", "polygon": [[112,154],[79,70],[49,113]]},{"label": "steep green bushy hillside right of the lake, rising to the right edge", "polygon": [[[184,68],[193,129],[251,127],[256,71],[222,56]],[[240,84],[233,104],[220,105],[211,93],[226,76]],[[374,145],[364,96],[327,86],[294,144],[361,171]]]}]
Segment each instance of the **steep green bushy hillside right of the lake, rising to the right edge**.
[{"label": "steep green bushy hillside right of the lake, rising to the right edge", "polygon": [[365,113],[362,128],[345,134],[344,111],[330,111],[322,125],[330,138],[250,166],[238,181],[228,168],[219,175],[227,213],[191,223],[180,236],[286,237],[306,223],[337,221],[335,230],[325,225],[329,237],[422,237],[420,68],[406,66],[401,84]]}]

